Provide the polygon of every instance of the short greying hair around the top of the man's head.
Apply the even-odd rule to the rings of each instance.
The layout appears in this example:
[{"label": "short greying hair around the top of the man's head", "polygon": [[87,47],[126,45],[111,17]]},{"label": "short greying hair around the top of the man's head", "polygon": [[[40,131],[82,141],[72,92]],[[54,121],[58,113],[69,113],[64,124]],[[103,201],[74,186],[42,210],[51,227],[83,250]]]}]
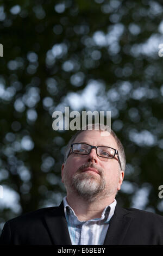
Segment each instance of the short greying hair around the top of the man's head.
[{"label": "short greying hair around the top of the man's head", "polygon": [[[120,157],[120,161],[121,161],[121,166],[122,166],[122,170],[124,171],[126,169],[126,154],[124,152],[124,148],[123,148],[123,145],[120,141],[120,139],[117,137],[116,133],[110,129],[110,127],[108,125],[103,125],[103,124],[92,124],[91,126],[91,130],[95,130],[95,127],[97,127],[96,125],[98,125],[98,130],[99,131],[110,131],[110,134],[112,135],[112,137],[114,137],[116,143],[117,143],[117,146],[118,146],[118,155]],[[66,150],[65,150],[65,157],[64,157],[64,163],[66,162],[67,160],[67,157],[68,157],[68,154],[70,153],[70,149],[71,149],[71,144],[74,142],[74,140],[78,137],[78,135],[84,131],[87,131],[88,128],[90,127],[90,125],[87,125],[85,127],[85,130],[80,130],[80,131],[77,131],[70,139],[70,141],[68,142],[67,146],[66,146]],[[105,136],[103,137],[105,138]]]}]

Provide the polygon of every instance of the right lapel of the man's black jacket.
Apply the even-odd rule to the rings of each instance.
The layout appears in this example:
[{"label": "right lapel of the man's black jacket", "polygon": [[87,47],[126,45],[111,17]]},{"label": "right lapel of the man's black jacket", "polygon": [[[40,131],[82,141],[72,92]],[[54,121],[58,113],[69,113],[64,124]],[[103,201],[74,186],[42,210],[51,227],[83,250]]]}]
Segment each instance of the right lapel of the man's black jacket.
[{"label": "right lapel of the man's black jacket", "polygon": [[131,220],[130,212],[116,205],[114,215],[109,222],[104,245],[123,245]]}]

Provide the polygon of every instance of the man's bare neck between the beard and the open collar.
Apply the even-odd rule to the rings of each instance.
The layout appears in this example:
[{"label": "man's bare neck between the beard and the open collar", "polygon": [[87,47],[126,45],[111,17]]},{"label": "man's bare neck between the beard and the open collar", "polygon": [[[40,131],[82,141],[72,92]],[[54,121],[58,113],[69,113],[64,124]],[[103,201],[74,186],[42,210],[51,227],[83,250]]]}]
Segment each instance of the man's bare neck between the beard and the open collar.
[{"label": "man's bare neck between the beard and the open collar", "polygon": [[114,202],[115,195],[101,200],[95,200],[95,202],[86,202],[74,194],[67,194],[67,203],[74,210],[79,221],[88,221],[92,218],[101,218],[102,212],[106,206]]}]

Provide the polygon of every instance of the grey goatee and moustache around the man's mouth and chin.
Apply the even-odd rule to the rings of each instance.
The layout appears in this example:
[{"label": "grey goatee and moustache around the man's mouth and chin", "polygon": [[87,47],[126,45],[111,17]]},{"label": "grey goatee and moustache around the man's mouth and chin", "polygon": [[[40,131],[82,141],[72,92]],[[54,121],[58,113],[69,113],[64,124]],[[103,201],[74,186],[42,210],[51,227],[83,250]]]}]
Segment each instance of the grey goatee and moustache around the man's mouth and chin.
[{"label": "grey goatee and moustache around the man's mouth and chin", "polygon": [[[84,167],[87,166],[82,166],[79,168],[79,170],[83,169]],[[96,168],[96,166],[93,166],[93,164],[91,164],[91,167]],[[82,173],[81,171],[77,172],[73,176],[71,184],[73,190],[77,192],[79,197],[82,197],[82,199],[86,200],[87,202],[95,202],[97,198],[103,198],[106,195],[101,193],[104,191],[106,183],[103,178],[102,171],[99,169],[98,171],[99,175],[101,176],[99,176],[99,178],[94,174],[91,175],[90,173]]]}]

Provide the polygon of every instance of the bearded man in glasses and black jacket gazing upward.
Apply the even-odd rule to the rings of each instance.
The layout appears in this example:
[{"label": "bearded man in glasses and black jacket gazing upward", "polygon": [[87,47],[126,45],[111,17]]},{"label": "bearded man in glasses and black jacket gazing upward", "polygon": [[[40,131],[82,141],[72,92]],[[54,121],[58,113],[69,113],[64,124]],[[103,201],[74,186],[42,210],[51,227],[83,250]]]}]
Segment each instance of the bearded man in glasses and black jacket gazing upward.
[{"label": "bearded man in glasses and black jacket gazing upward", "polygon": [[5,223],[0,245],[163,245],[162,216],[117,205],[125,166],[112,130],[78,131],[61,167],[67,196]]}]

